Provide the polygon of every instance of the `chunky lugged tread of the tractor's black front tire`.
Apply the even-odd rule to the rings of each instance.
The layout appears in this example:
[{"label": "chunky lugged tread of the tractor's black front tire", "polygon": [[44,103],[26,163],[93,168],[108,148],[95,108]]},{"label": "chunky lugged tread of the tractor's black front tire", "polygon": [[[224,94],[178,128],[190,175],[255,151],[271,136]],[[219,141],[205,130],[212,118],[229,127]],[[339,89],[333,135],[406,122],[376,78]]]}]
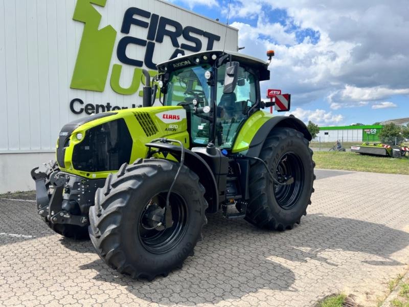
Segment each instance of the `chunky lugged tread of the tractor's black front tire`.
[{"label": "chunky lugged tread of the tractor's black front tire", "polygon": [[[99,256],[109,267],[122,274],[130,275],[134,279],[146,278],[148,280],[152,280],[158,275],[168,275],[175,267],[181,268],[184,259],[181,259],[175,267],[160,272],[149,270],[149,268],[146,271],[138,272],[131,263],[127,262],[118,231],[125,205],[118,202],[112,204],[112,202],[117,198],[127,200],[128,192],[140,188],[145,178],[155,176],[158,172],[178,168],[178,164],[164,159],[138,159],[133,164],[124,165],[121,166],[117,174],[112,174],[109,180],[107,179],[103,188],[97,190],[98,196],[96,196],[95,206],[89,209],[89,236]],[[197,174],[186,166],[183,167],[181,172],[189,174],[192,181],[198,185],[200,197],[204,200],[205,188],[199,183]],[[202,228],[207,224],[207,218],[204,214],[207,209],[207,202],[205,201],[205,203],[206,207],[203,209],[203,214],[201,214],[199,238],[201,237]],[[101,211],[101,214],[98,214],[99,211]],[[191,255],[192,252],[189,254]]]}]

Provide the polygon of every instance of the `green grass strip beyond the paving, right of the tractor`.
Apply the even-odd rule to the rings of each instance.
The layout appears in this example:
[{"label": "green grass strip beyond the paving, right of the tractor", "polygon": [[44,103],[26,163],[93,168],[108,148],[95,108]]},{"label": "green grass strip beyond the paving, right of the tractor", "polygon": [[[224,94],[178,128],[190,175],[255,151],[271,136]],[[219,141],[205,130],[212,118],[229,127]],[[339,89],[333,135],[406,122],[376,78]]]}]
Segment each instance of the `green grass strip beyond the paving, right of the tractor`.
[{"label": "green grass strip beyond the paving, right of the tractor", "polygon": [[355,152],[314,151],[317,168],[369,171],[409,175],[408,157],[362,156]]}]

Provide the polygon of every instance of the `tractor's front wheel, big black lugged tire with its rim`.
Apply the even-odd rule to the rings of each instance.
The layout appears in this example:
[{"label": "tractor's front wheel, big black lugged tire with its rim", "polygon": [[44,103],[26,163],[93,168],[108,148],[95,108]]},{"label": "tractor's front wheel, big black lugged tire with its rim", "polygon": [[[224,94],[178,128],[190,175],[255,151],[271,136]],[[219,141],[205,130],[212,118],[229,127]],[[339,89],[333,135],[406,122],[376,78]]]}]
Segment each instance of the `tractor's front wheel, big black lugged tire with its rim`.
[{"label": "tractor's front wheel, big black lugged tire with its rim", "polygon": [[158,224],[147,217],[149,210],[164,208],[179,165],[139,159],[123,165],[97,190],[95,206],[89,209],[89,236],[108,266],[133,278],[151,280],[181,268],[193,255],[207,223],[205,188],[193,171],[183,166],[172,188],[173,226],[150,229]]}]

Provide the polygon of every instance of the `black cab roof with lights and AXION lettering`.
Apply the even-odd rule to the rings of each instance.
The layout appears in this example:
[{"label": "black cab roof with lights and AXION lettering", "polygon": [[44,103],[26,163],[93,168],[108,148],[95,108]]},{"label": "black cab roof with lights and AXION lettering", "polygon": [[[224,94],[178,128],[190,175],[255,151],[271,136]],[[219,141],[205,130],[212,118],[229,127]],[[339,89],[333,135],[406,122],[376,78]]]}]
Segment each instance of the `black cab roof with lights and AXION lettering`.
[{"label": "black cab roof with lights and AXION lettering", "polygon": [[[157,64],[156,67],[161,73],[170,73],[172,71],[189,67],[198,64],[214,64],[221,56],[229,54],[232,55],[232,61],[240,62],[241,65],[251,67],[253,70],[259,72],[259,80],[269,80],[270,71],[268,70],[268,62],[261,59],[245,55],[234,51],[209,50],[201,51],[193,54],[188,54],[180,57],[170,59],[168,61]],[[212,56],[216,55],[216,60]],[[198,61],[197,61],[198,60]]]}]

